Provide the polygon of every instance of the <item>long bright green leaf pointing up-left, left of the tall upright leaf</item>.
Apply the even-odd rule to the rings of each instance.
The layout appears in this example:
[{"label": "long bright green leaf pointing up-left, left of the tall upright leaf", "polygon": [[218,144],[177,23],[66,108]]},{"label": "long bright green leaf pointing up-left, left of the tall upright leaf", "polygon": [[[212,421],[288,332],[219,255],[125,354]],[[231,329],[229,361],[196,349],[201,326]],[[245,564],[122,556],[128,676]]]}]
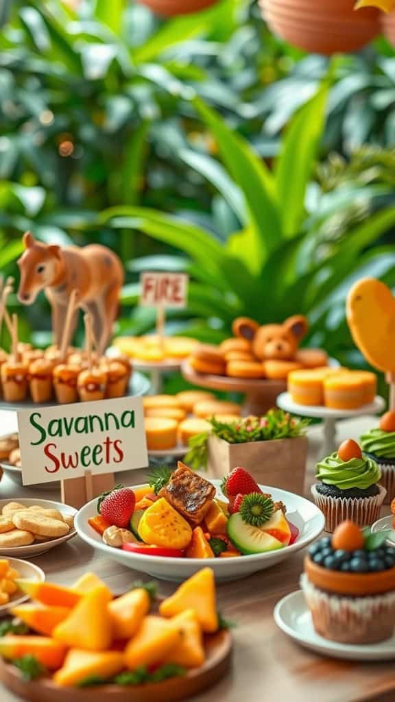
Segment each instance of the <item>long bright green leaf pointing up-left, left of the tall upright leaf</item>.
[{"label": "long bright green leaf pointing up-left, left of the tall upright leaf", "polygon": [[[240,249],[245,251],[248,247],[250,268],[259,274],[268,253],[279,246],[283,236],[273,178],[247,141],[232,131],[219,114],[199,98],[193,102],[212,130],[221,158],[245,197],[250,226],[240,238]],[[237,250],[233,242],[233,253],[236,254]]]}]

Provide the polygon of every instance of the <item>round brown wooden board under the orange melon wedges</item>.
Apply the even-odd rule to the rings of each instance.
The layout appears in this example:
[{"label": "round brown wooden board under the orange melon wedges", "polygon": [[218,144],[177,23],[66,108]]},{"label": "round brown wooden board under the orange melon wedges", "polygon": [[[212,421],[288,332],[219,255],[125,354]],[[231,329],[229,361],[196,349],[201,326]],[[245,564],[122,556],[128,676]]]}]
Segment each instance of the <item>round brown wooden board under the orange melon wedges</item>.
[{"label": "round brown wooden board under the orange melon wedges", "polygon": [[144,685],[58,687],[51,680],[26,682],[18,668],[0,661],[0,680],[15,695],[30,702],[177,702],[212,687],[231,667],[232,637],[228,630],[205,637],[206,661],[182,677]]}]

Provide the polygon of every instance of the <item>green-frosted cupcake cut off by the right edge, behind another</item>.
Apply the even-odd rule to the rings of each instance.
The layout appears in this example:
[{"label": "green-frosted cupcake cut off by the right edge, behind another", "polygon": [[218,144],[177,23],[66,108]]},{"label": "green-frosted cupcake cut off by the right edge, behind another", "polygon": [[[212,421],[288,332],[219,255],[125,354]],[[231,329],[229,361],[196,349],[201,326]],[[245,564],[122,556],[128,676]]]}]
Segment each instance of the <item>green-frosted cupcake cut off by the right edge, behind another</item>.
[{"label": "green-frosted cupcake cut off by the right edge, behind another", "polygon": [[380,483],[387,490],[384,504],[395,497],[395,412],[383,414],[379,426],[361,436],[363,455],[373,458],[380,466]]}]

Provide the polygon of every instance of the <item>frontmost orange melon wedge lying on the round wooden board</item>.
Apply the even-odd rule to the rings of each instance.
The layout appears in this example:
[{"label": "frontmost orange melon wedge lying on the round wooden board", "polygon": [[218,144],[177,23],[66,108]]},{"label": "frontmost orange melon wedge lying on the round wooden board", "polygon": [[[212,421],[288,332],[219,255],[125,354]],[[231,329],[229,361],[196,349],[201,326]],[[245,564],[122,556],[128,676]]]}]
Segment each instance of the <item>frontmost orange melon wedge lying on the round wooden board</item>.
[{"label": "frontmost orange melon wedge lying on the round wooden board", "polygon": [[[53,682],[60,687],[77,685],[87,677],[98,676],[104,680],[113,677],[124,668],[122,651],[103,651],[94,653],[82,649],[70,649],[63,663],[63,668],[53,675]],[[100,699],[98,691],[98,699]]]}]

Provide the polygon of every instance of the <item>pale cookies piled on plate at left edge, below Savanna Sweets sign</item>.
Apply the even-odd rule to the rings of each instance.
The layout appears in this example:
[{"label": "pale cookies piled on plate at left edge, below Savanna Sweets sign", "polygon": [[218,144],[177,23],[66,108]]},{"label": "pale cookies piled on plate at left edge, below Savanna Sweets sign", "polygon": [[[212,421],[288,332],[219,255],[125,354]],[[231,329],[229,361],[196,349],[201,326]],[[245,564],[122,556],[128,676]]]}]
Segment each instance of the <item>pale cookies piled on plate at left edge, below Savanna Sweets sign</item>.
[{"label": "pale cookies piled on plate at left edge, below Savanna Sweets sign", "polygon": [[67,536],[74,529],[74,517],[41,505],[8,502],[0,515],[0,549],[30,546]]}]

